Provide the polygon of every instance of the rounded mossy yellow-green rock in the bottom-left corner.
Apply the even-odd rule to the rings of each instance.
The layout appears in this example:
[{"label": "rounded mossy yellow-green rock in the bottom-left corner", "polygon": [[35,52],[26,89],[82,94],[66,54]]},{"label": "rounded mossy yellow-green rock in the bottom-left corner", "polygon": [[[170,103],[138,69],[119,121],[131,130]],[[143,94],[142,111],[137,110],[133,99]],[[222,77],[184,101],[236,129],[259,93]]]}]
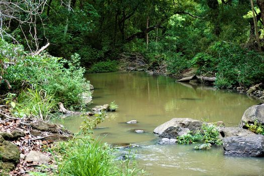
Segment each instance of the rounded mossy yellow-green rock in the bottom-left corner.
[{"label": "rounded mossy yellow-green rock in the bottom-left corner", "polygon": [[20,158],[18,147],[10,141],[0,144],[0,160],[17,163]]}]

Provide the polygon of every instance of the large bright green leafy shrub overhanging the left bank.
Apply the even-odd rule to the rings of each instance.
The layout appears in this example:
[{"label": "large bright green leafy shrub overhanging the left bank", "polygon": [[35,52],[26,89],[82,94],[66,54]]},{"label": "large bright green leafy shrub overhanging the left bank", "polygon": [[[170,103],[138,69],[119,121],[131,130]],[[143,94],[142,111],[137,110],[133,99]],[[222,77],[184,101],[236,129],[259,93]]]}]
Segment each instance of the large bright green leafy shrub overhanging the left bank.
[{"label": "large bright green leafy shrub overhanging the left bank", "polygon": [[[16,46],[3,41],[0,43],[0,48]],[[6,52],[5,56],[14,55],[9,49]],[[65,107],[82,105],[80,94],[89,91],[85,90],[85,87],[89,87],[89,82],[83,77],[85,70],[79,65],[78,54],[72,55],[69,61],[45,53],[31,56],[19,52],[15,56],[12,57],[16,58],[16,62],[8,66],[3,75],[10,82],[13,91],[21,92],[26,88],[44,90],[53,95],[54,99],[59,99]],[[6,89],[4,82],[0,86]]]}]

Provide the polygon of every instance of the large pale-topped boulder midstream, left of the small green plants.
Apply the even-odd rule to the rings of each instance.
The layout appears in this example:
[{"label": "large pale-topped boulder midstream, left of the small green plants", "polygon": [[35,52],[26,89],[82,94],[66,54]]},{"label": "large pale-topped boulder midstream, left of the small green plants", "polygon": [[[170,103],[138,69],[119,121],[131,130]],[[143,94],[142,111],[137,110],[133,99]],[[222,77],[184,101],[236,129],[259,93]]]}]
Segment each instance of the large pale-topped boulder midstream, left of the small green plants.
[{"label": "large pale-topped boulder midstream, left of the small green plants", "polygon": [[173,118],[156,127],[153,132],[161,137],[175,139],[190,131],[200,130],[202,125],[203,122],[191,118]]}]

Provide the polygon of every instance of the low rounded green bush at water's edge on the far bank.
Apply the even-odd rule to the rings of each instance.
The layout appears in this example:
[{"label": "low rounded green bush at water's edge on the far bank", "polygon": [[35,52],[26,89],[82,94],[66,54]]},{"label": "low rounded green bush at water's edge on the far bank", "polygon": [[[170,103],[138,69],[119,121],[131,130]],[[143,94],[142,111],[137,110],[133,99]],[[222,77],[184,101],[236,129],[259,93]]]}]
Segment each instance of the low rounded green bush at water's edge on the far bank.
[{"label": "low rounded green bush at water's edge on the far bank", "polygon": [[118,61],[116,60],[108,60],[95,63],[88,72],[114,72],[118,71]]}]

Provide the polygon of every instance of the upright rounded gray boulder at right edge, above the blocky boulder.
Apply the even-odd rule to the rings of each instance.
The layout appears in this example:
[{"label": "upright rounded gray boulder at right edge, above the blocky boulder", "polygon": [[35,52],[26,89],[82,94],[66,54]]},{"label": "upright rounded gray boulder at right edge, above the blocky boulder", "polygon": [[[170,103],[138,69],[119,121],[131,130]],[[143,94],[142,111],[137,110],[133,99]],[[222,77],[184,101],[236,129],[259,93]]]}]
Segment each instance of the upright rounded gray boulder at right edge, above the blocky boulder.
[{"label": "upright rounded gray boulder at right edge, above the blocky boulder", "polygon": [[239,127],[245,128],[245,124],[255,121],[264,125],[264,104],[249,107],[243,114]]}]

